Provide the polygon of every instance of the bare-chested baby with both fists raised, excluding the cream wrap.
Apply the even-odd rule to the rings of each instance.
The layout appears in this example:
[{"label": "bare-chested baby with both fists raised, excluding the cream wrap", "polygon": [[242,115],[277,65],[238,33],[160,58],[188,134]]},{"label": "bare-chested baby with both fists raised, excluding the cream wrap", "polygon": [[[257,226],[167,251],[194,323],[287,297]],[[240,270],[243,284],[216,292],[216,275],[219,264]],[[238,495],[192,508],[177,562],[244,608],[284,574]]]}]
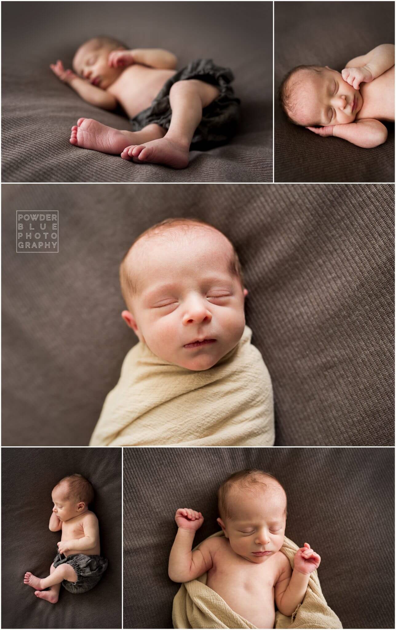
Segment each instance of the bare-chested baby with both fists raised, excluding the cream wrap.
[{"label": "bare-chested baby with both fists raised, excluding the cream wrap", "polygon": [[280,551],[286,493],[270,474],[244,470],[231,475],[218,490],[218,512],[224,537],[206,539],[191,551],[203,516],[187,508],[177,510],[179,529],[169,556],[169,577],[187,582],[207,572],[206,586],[234,612],[257,628],[272,628],[274,604],[284,615],[293,614],[305,597],[320,556],[305,542],[295,554],[291,571]]}]

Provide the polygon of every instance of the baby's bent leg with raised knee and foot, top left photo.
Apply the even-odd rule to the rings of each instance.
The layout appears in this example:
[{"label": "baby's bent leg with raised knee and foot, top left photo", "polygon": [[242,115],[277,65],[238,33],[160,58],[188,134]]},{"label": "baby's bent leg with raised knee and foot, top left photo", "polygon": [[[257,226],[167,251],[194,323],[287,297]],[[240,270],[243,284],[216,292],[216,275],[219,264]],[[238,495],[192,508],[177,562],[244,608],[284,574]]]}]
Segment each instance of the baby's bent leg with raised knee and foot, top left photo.
[{"label": "baby's bent leg with raised knee and foot, top left photo", "polygon": [[121,157],[134,162],[155,162],[173,168],[188,166],[188,151],[204,107],[220,94],[215,86],[196,79],[178,81],[169,92],[172,118],[164,137],[124,149]]}]

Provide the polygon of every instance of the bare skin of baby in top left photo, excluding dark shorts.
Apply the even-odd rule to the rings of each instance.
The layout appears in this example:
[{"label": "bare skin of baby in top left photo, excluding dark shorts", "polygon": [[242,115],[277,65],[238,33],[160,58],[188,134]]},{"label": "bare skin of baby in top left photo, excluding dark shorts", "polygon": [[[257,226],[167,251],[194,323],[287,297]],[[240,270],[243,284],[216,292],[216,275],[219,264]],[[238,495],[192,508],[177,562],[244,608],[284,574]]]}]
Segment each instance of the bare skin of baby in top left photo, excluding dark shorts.
[{"label": "bare skin of baby in top left photo, excluding dark shorts", "polygon": [[[166,50],[113,50],[98,48],[90,40],[73,60],[74,69],[65,70],[60,60],[51,69],[84,100],[106,110],[121,105],[133,118],[149,107],[176,70],[176,57]],[[135,163],[188,166],[188,152],[202,110],[219,91],[204,81],[178,81],[169,92],[172,118],[169,130],[150,124],[138,132],[108,127],[93,118],[79,118],[71,130],[70,142],[82,149],[120,154]]]}]

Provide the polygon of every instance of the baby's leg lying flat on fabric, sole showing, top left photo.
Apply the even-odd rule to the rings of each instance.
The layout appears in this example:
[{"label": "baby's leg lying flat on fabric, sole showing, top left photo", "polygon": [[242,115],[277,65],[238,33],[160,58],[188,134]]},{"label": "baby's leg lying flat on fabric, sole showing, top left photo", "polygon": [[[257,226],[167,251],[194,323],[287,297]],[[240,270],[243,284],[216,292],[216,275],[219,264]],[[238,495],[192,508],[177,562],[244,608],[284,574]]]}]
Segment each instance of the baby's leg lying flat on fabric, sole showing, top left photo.
[{"label": "baby's leg lying flat on fabric, sole showing, top left photo", "polygon": [[120,131],[102,125],[93,118],[79,118],[77,125],[72,127],[70,142],[81,149],[120,154],[131,142],[139,144],[162,138],[163,135],[165,135],[165,130],[156,124],[147,125],[140,131]]}]

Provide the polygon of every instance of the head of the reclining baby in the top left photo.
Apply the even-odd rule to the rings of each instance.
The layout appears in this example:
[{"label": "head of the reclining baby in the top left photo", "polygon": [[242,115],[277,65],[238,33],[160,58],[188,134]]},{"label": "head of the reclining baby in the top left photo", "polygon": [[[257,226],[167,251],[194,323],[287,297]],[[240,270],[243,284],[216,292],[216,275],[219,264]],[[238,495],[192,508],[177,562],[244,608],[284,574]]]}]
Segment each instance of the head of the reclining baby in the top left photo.
[{"label": "head of the reclining baby in the top left photo", "polygon": [[74,54],[72,62],[74,72],[98,88],[106,89],[123,71],[123,67],[109,67],[109,54],[112,50],[125,48],[122,42],[112,37],[94,37],[81,44]]}]

